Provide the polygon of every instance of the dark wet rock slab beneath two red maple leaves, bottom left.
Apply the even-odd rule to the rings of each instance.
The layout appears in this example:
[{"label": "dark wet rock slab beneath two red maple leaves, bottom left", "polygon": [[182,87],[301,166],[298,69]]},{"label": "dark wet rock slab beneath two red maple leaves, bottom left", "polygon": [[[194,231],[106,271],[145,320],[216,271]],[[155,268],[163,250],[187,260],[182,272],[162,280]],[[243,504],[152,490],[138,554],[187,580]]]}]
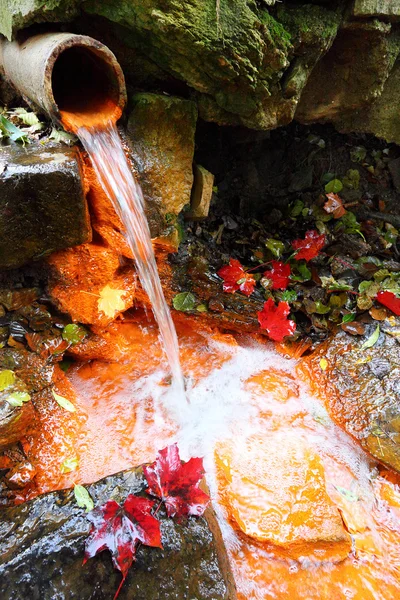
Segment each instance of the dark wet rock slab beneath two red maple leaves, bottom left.
[{"label": "dark wet rock slab beneath two red maple leaves, bottom left", "polygon": [[[110,498],[121,503],[128,493],[144,492],[145,488],[140,469],[87,486],[95,505]],[[119,597],[234,600],[236,594],[212,516],[209,522],[201,517],[177,524],[166,518],[162,509],[158,515],[164,548],[138,549]],[[102,552],[82,566],[90,526],[72,490],[45,494],[4,510],[0,517],[2,598],[112,598],[121,574],[113,569],[110,553]]]}]

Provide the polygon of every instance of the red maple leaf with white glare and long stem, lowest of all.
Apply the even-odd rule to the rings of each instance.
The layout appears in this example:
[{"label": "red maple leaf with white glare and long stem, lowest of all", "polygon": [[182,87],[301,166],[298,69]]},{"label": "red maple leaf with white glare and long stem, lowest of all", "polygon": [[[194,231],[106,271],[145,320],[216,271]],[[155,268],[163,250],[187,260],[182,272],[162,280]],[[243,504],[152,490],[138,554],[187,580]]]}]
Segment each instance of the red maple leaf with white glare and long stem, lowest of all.
[{"label": "red maple leaf with white glare and long stem, lowest of all", "polygon": [[150,514],[154,504],[152,500],[129,494],[123,506],[107,500],[87,515],[92,529],[86,540],[83,564],[103,550],[111,552],[114,567],[122,573],[114,600],[135,560],[138,543],[162,548],[160,522]]}]

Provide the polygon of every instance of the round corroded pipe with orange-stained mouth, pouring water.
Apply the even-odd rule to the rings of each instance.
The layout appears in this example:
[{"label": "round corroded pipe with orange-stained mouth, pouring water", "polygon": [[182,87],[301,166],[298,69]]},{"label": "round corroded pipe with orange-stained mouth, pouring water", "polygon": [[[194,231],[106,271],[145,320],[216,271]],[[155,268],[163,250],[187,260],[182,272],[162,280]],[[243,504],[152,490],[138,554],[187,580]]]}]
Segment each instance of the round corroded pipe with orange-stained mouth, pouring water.
[{"label": "round corroded pipe with orange-stained mouth, pouring water", "polygon": [[84,35],[2,39],[0,73],[31,105],[70,131],[116,121],[126,102],[124,75],[114,54]]}]

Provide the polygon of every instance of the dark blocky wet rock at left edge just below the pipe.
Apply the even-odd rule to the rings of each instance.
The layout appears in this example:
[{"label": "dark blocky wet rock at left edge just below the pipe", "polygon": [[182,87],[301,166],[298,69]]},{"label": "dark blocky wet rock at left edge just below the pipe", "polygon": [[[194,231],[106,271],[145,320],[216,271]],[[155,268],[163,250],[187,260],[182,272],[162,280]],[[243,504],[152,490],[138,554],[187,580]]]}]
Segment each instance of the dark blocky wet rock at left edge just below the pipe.
[{"label": "dark blocky wet rock at left edge just below the pipe", "polygon": [[75,148],[13,144],[0,155],[0,268],[16,268],[91,239]]}]

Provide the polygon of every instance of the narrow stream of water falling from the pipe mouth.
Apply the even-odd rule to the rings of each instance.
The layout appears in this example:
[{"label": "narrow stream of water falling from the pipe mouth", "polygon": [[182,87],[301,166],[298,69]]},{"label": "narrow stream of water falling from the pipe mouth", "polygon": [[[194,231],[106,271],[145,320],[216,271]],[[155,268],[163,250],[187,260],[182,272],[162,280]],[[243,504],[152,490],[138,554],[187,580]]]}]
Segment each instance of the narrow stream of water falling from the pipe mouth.
[{"label": "narrow stream of water falling from the pipe mouth", "polygon": [[157,271],[142,190],[133,177],[113,123],[108,123],[102,128],[80,127],[77,133],[89,154],[101,186],[125,226],[127,242],[135,258],[141,284],[149,297],[158,323],[172,372],[173,385],[181,399],[180,403],[184,404],[186,399],[178,338]]}]

